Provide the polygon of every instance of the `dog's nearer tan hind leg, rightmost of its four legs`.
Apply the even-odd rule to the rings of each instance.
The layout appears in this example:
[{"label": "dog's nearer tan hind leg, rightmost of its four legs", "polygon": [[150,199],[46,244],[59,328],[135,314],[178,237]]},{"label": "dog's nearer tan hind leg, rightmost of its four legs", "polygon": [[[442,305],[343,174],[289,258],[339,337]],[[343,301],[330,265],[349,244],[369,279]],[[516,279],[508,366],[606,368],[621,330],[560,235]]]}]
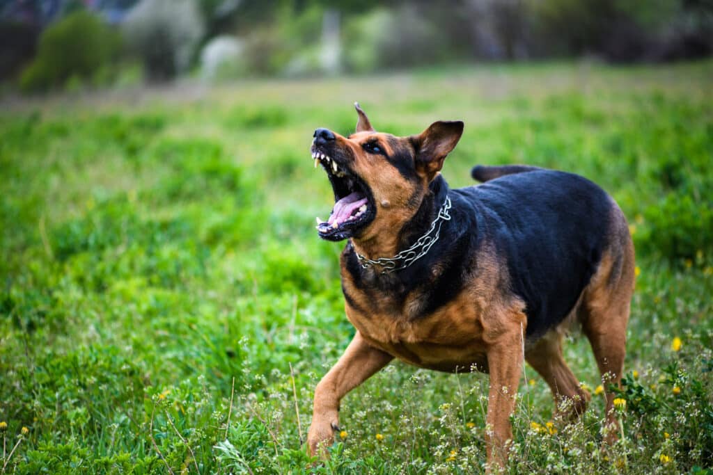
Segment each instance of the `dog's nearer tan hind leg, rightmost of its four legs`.
[{"label": "dog's nearer tan hind leg, rightmost of its four legs", "polygon": [[616,442],[619,433],[614,412],[615,394],[609,388],[620,385],[624,371],[626,327],[635,281],[634,246],[623,216],[618,221],[619,229],[612,233],[617,246],[610,246],[603,254],[597,272],[585,289],[582,305],[582,329],[592,345],[605,387],[607,443]]}]

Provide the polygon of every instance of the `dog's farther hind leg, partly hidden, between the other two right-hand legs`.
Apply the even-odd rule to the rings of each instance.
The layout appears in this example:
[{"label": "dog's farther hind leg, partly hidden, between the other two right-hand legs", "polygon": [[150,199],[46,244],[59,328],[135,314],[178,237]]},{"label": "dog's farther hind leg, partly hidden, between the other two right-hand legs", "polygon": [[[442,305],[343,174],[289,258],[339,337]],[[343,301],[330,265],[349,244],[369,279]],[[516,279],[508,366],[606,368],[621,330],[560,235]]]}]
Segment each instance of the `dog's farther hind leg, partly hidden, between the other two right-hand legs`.
[{"label": "dog's farther hind leg, partly hidden, between the other two right-hand legs", "polygon": [[584,414],[590,395],[580,387],[577,377],[565,362],[562,339],[558,330],[551,330],[525,351],[525,360],[550,386],[555,397],[555,407],[559,408],[564,399],[571,401],[570,418],[574,419]]}]

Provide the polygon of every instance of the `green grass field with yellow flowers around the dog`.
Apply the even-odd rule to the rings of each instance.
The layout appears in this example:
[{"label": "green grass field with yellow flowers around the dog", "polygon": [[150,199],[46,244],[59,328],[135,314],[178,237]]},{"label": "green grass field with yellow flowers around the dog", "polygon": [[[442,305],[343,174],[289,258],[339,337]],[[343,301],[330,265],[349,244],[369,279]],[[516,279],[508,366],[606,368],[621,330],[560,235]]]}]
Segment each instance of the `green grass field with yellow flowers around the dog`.
[{"label": "green grass field with yellow flowers around the dog", "polygon": [[[354,333],[342,244],[313,228],[333,202],[309,143],[353,130],[359,100],[399,135],[464,120],[452,187],[476,163],[563,169],[630,220],[622,439],[600,451],[600,380],[575,333],[565,357],[590,409],[563,424],[526,367],[508,473],[713,473],[711,78],[710,61],[489,66],[9,103],[2,471],[309,470],[312,391]],[[481,472],[487,387],[394,362],[344,399],[344,432],[312,470]]]}]

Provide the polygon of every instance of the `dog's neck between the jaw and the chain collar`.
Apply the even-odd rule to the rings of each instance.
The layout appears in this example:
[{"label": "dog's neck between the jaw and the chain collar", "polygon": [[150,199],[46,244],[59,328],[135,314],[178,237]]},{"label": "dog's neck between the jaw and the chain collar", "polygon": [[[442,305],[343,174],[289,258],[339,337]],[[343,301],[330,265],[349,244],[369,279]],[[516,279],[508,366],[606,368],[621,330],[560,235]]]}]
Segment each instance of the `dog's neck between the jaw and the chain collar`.
[{"label": "dog's neck between the jaw and the chain collar", "polygon": [[[421,236],[429,231],[431,224],[438,216],[443,202],[448,194],[448,184],[438,174],[429,184],[429,190],[421,201],[416,214],[399,231],[379,234],[370,239],[352,239],[354,251],[366,259],[392,258],[404,249],[408,249]],[[383,268],[374,266],[374,271],[380,273]]]}]

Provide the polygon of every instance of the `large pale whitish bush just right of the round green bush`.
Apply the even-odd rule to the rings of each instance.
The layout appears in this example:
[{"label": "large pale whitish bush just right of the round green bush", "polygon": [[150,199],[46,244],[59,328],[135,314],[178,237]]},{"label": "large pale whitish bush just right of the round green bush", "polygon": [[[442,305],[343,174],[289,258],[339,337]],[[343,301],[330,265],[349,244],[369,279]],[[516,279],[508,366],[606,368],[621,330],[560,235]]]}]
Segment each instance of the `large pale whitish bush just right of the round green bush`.
[{"label": "large pale whitish bush just right of the round green bush", "polygon": [[122,27],[128,46],[142,58],[151,80],[187,71],[203,35],[194,0],[141,0]]}]

